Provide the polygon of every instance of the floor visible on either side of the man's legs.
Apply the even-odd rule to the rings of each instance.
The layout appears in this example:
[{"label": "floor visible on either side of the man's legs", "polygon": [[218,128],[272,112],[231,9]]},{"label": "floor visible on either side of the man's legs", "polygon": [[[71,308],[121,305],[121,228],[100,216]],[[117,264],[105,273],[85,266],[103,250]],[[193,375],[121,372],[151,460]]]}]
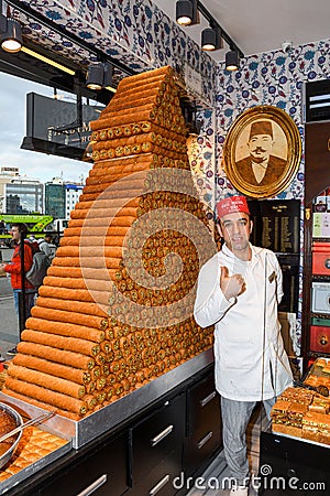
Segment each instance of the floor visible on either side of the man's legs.
[{"label": "floor visible on either side of the man's legs", "polygon": [[[267,419],[262,408],[257,408],[249,423],[246,432],[248,455],[250,461],[251,472],[257,474],[258,472],[258,450],[260,450],[260,432],[267,424]],[[187,493],[187,496],[228,496],[229,489],[226,489],[226,479],[230,477],[228,466],[221,452],[207,470],[194,483],[194,487]],[[249,496],[255,496],[257,493],[250,488]]]}]

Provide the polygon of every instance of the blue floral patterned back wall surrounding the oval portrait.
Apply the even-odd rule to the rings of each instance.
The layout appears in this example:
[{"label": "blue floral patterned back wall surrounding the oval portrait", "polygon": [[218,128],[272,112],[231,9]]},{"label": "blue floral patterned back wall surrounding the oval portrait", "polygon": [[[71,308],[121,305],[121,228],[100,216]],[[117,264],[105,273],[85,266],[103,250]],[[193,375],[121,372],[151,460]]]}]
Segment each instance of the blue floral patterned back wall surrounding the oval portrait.
[{"label": "blue floral patterned back wall surrounding the oval portrait", "polygon": [[[233,191],[221,169],[226,136],[237,117],[258,105],[273,105],[285,110],[296,122],[304,148],[301,115],[302,84],[330,77],[330,42],[309,43],[294,47],[289,54],[274,51],[253,55],[242,61],[240,71],[228,73],[218,68],[217,87],[217,163],[216,196],[220,198]],[[278,198],[304,200],[304,153],[299,171]]]}]

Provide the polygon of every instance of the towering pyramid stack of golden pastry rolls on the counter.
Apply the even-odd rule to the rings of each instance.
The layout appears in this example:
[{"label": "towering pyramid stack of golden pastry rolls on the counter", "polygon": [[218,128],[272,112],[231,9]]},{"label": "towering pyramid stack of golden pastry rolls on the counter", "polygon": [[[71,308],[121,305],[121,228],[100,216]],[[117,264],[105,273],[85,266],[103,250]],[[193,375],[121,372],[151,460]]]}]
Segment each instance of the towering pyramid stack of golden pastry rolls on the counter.
[{"label": "towering pyramid stack of golden pastry rolls on the counter", "polygon": [[4,385],[76,420],[212,345],[191,316],[212,240],[172,68],[123,79],[91,128],[94,168]]}]

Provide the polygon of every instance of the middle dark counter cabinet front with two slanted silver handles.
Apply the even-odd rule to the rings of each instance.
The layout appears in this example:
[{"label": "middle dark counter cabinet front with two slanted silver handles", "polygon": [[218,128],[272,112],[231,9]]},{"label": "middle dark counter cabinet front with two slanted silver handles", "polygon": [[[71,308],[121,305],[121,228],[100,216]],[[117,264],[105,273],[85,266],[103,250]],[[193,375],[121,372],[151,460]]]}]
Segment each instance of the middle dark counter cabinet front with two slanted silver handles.
[{"label": "middle dark counter cabinet front with two slanted silver handles", "polygon": [[182,393],[131,430],[130,494],[175,494],[173,478],[182,471],[185,407]]}]

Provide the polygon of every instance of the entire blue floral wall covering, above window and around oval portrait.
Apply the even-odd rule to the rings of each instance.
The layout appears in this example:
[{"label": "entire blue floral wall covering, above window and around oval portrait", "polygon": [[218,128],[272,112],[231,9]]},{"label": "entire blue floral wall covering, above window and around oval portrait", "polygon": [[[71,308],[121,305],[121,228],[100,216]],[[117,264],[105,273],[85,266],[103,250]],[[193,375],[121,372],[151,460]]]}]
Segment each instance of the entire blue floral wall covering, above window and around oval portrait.
[{"label": "entire blue floral wall covering, above window and around oval portrait", "polygon": [[[330,77],[329,41],[297,46],[289,54],[274,51],[253,55],[242,61],[240,71],[228,73],[223,64],[216,67],[215,62],[152,0],[31,0],[26,3],[77,37],[136,71],[172,65],[183,74],[188,63],[201,74],[201,94],[216,112],[211,118],[210,109],[201,110],[199,115],[204,123],[200,144],[206,145],[207,157],[212,143],[209,137],[215,134],[215,153],[209,159],[204,157],[200,166],[208,187],[210,174],[213,174],[210,205],[233,191],[221,169],[221,161],[222,145],[235,118],[256,105],[277,106],[295,120],[304,144],[302,82]],[[46,43],[50,50],[72,51],[70,56],[74,56],[73,47],[58,33],[50,33],[31,22],[26,30],[36,41]],[[86,57],[86,53],[80,48],[75,56]],[[279,197],[302,200],[302,196],[304,157],[295,180]]]}]

